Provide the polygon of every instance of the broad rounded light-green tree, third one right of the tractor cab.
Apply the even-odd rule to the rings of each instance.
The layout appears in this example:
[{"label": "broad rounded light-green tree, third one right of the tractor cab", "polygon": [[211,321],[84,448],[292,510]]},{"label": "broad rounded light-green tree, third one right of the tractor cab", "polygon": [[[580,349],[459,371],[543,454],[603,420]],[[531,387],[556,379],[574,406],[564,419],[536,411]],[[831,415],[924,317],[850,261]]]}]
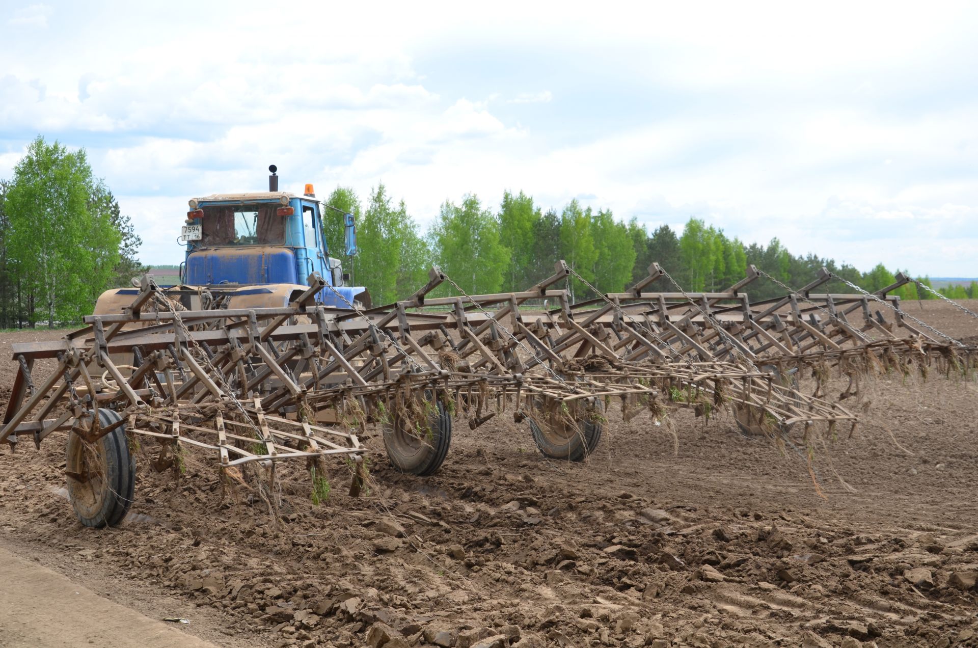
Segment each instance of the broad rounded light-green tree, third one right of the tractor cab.
[{"label": "broad rounded light-green tree, third one right of the tractor cab", "polygon": [[472,294],[497,293],[510,263],[500,241],[499,221],[468,194],[461,206],[446,202],[429,235],[441,269]]}]

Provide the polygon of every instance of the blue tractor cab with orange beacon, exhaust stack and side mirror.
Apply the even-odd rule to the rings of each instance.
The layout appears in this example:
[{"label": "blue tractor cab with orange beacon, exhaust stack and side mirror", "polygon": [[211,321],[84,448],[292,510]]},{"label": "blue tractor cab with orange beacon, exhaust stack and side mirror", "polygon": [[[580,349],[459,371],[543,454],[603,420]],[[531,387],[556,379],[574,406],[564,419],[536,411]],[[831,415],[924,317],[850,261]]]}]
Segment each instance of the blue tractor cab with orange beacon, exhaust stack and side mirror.
[{"label": "blue tractor cab with orange beacon, exhaust stack and side mirror", "polygon": [[[268,192],[212,194],[190,201],[182,233],[187,251],[181,282],[185,286],[228,289],[237,297],[254,295],[247,301],[257,305],[279,300],[257,297],[254,291],[285,296],[292,292],[289,287],[308,286],[308,277],[317,272],[335,290],[324,288],[317,301],[340,308],[349,307],[346,301],[359,301],[358,305],[369,307],[366,289],[346,286],[349,275],[343,274],[339,259],[330,256],[321,204],[313,186],[307,184],[302,196],[277,191],[275,167],[270,170]],[[344,225],[345,252],[355,255],[351,214],[346,214]],[[288,302],[288,297],[283,299]]]}]

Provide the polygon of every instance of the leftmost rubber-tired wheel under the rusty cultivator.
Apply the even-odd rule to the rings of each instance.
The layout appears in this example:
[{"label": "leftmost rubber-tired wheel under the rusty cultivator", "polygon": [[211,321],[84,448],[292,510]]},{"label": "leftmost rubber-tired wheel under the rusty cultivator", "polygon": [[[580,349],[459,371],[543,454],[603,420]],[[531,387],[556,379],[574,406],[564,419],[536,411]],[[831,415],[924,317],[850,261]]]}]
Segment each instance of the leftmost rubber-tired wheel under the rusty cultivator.
[{"label": "leftmost rubber-tired wheel under the rusty cultivator", "polygon": [[[109,426],[121,417],[111,409],[99,408],[99,425]],[[85,451],[88,443],[74,433],[67,438],[67,469],[77,470],[76,459]],[[101,529],[114,527],[122,522],[132,505],[136,486],[136,458],[129,453],[129,440],[125,436],[125,424],[95,441],[94,450],[103,461],[103,478],[98,491],[92,492],[85,483],[67,478],[68,499],[78,521],[86,527]],[[90,500],[90,501],[86,501]]]}]

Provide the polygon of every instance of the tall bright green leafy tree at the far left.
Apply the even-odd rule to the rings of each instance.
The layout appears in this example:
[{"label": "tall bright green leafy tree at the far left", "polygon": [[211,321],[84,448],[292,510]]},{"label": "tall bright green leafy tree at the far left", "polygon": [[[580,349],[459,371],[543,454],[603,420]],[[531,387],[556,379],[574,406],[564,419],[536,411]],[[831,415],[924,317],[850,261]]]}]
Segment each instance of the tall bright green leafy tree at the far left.
[{"label": "tall bright green leafy tree at the far left", "polygon": [[78,321],[110,285],[122,234],[113,226],[108,189],[85,151],[38,136],[14,168],[4,202],[8,254],[17,265],[31,324]]}]

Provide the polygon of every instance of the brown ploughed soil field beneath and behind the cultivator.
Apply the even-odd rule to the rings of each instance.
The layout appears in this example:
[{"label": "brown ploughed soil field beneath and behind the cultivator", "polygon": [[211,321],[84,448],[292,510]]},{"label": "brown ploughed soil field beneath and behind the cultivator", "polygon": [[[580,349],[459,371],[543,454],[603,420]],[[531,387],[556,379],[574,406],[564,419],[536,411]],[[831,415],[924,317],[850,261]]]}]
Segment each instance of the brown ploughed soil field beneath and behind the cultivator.
[{"label": "brown ploughed soil field beneath and behind the cultivator", "polygon": [[[951,304],[907,308],[978,335]],[[62,335],[0,337],[5,395],[10,344]],[[811,471],[804,448],[685,411],[661,427],[612,415],[587,462],[551,461],[506,412],[457,419],[424,479],[393,472],[368,431],[368,493],[349,497],[337,462],[326,503],[287,483],[278,518],[202,461],[156,474],[140,458],[129,517],[103,531],[74,519],[63,439],[23,439],[0,456],[0,541],[235,648],[978,645],[978,385],[871,390]]]}]

